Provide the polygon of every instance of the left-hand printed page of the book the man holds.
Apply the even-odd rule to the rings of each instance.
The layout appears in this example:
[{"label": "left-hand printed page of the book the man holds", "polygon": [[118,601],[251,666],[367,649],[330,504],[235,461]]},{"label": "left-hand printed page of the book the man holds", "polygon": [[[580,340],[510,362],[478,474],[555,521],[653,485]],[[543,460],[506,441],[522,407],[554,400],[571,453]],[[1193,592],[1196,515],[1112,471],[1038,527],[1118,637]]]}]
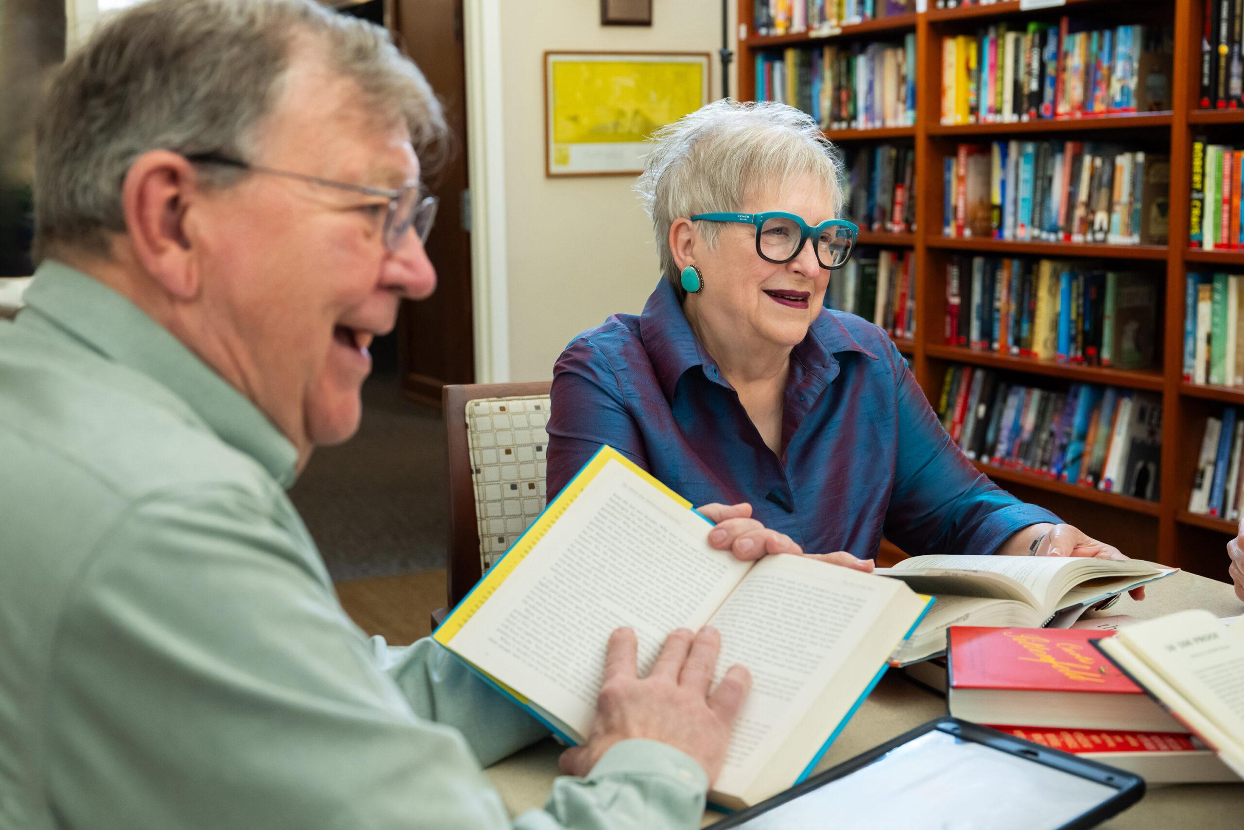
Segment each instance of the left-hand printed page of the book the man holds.
[{"label": "left-hand printed page of the book the man holds", "polygon": [[585,735],[610,633],[636,630],[647,674],[666,636],[698,630],[751,567],[710,548],[710,529],[610,462],[452,647]]}]

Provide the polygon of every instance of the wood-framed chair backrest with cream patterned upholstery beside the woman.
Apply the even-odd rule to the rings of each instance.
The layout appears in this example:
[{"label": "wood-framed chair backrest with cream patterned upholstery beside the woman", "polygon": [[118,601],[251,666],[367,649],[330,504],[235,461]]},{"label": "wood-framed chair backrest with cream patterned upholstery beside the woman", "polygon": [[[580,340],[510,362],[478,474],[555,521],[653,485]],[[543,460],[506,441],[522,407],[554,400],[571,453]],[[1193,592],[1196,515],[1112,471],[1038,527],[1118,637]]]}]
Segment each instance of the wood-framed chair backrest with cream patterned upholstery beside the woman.
[{"label": "wood-framed chair backrest with cream patterned upholstery beside the woman", "polygon": [[442,392],[449,452],[447,592],[455,606],[545,505],[549,381]]}]

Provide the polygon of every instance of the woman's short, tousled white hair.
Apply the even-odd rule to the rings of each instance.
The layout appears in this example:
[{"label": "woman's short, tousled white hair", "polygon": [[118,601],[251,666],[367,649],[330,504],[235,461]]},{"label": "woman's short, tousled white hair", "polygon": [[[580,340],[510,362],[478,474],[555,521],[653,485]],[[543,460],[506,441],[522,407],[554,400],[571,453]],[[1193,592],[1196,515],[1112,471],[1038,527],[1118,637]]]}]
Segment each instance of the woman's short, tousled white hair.
[{"label": "woman's short, tousled white hair", "polygon": [[[836,217],[842,209],[842,163],[833,144],[811,116],[785,103],[723,98],[658,129],[634,189],[652,217],[666,279],[679,287],[669,250],[675,219],[739,210],[758,189],[792,177],[821,180],[830,210]],[[710,245],[720,228],[699,223]]]}]

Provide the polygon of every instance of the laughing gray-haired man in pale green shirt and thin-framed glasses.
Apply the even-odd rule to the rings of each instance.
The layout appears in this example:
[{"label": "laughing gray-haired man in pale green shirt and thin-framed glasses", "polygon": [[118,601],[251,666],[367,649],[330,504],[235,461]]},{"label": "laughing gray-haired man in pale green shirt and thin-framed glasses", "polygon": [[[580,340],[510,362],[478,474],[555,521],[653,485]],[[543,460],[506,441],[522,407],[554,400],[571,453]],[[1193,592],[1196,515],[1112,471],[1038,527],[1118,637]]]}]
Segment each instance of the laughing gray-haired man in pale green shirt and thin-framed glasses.
[{"label": "laughing gray-haired man in pale green shirt and thin-framed glasses", "polygon": [[[63,67],[0,324],[0,828],[509,824],[480,764],[544,732],[355,628],[284,493],[433,290],[443,129],[383,32],[311,0],[154,0]],[[743,513],[719,548],[784,544]],[[715,660],[679,632],[641,681],[616,633],[573,776],[516,826],[695,826],[748,686],[709,696]]]}]

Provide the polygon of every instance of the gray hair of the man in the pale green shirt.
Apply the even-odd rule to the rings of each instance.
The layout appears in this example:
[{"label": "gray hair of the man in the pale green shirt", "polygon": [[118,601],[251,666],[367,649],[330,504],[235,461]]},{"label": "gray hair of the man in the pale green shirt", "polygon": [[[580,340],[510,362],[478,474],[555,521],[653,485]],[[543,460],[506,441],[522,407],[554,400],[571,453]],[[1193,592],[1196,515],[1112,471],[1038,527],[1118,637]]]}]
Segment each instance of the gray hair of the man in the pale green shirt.
[{"label": "gray hair of the man in the pale green shirt", "polygon": [[[440,102],[383,29],[313,0],[151,0],[102,24],[51,85],[35,136],[36,259],[62,245],[107,254],[108,234],[126,230],[122,182],[143,153],[248,158],[295,41],[322,50],[381,123],[404,121],[424,166],[439,161]],[[214,187],[241,175],[203,170]]]}]

